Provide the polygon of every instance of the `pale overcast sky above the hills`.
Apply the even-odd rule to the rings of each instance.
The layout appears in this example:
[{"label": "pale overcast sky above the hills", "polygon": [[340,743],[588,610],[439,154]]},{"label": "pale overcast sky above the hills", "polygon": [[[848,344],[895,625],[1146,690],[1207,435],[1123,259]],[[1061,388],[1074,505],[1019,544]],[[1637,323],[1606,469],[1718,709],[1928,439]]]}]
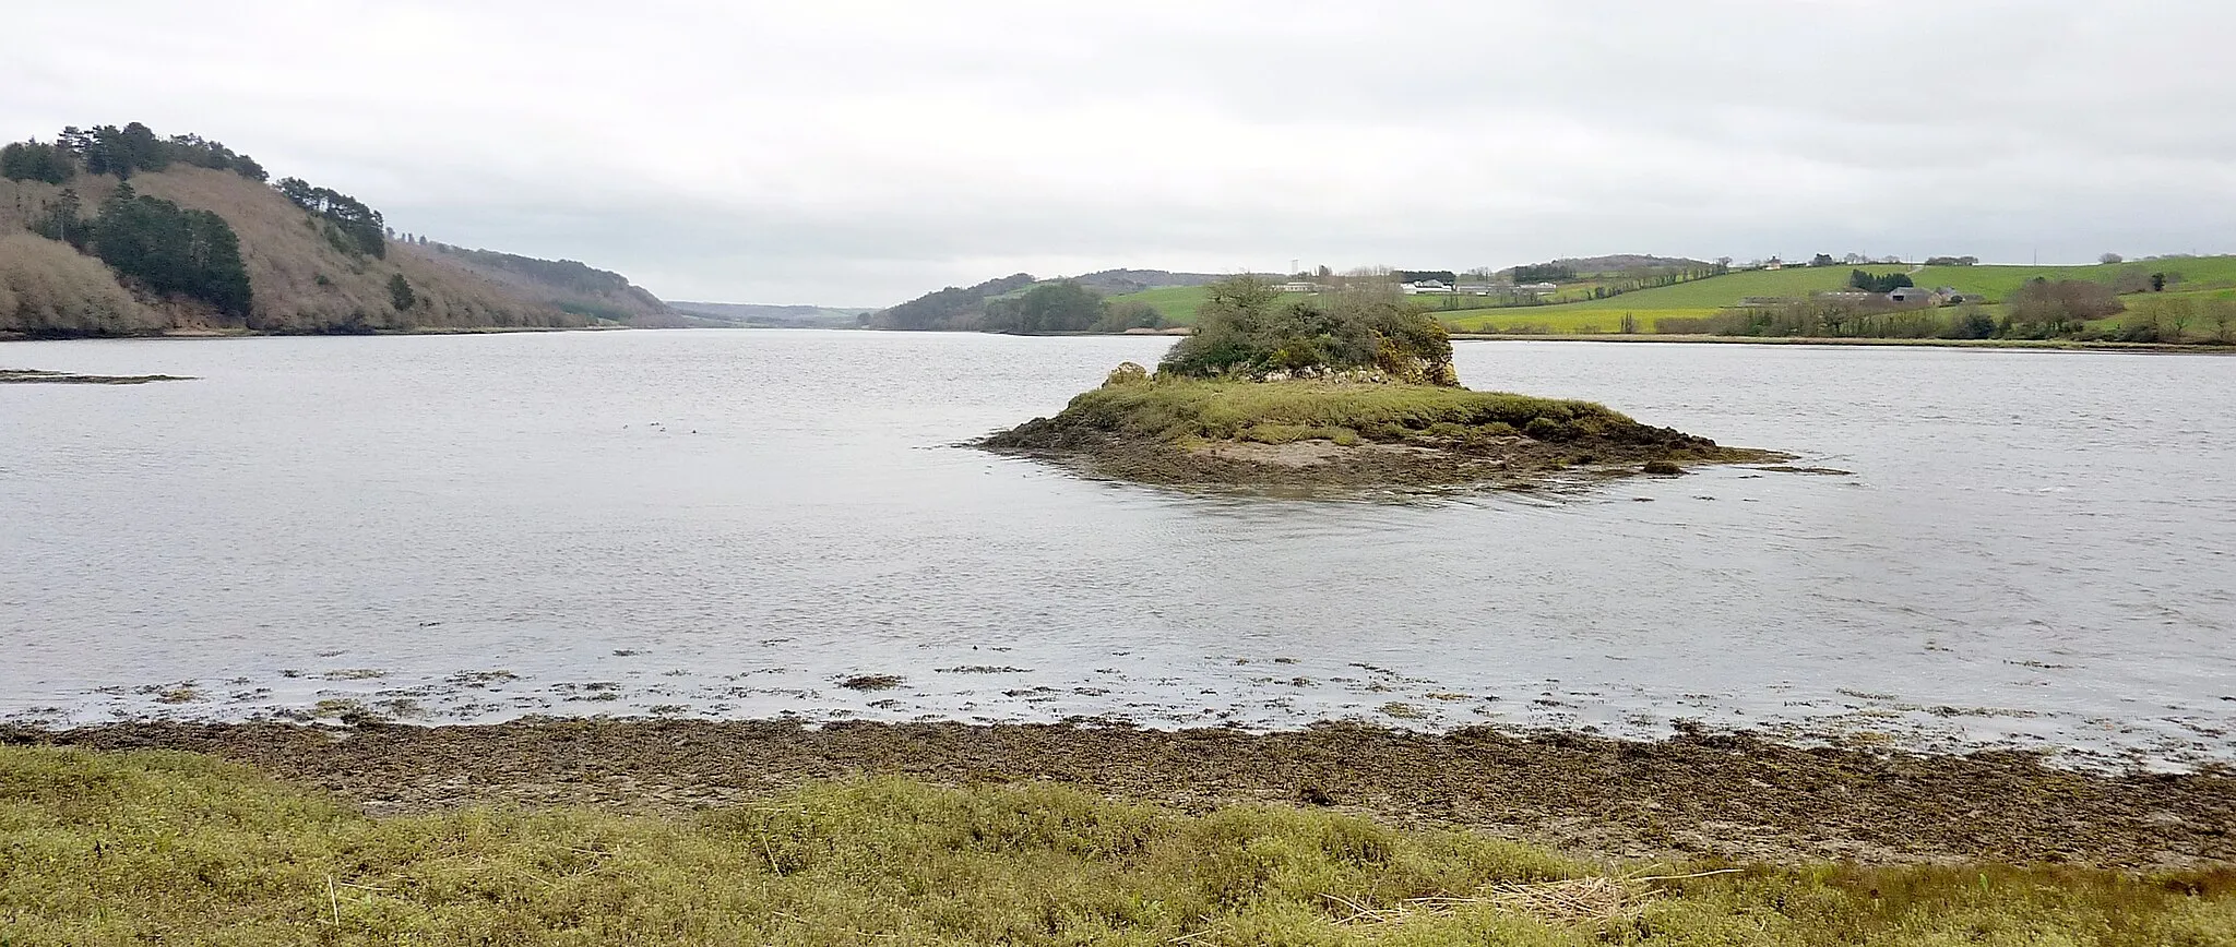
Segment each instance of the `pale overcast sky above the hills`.
[{"label": "pale overcast sky above the hills", "polygon": [[0,138],[141,121],[664,299],[1008,272],[2236,252],[2225,0],[76,0]]}]

